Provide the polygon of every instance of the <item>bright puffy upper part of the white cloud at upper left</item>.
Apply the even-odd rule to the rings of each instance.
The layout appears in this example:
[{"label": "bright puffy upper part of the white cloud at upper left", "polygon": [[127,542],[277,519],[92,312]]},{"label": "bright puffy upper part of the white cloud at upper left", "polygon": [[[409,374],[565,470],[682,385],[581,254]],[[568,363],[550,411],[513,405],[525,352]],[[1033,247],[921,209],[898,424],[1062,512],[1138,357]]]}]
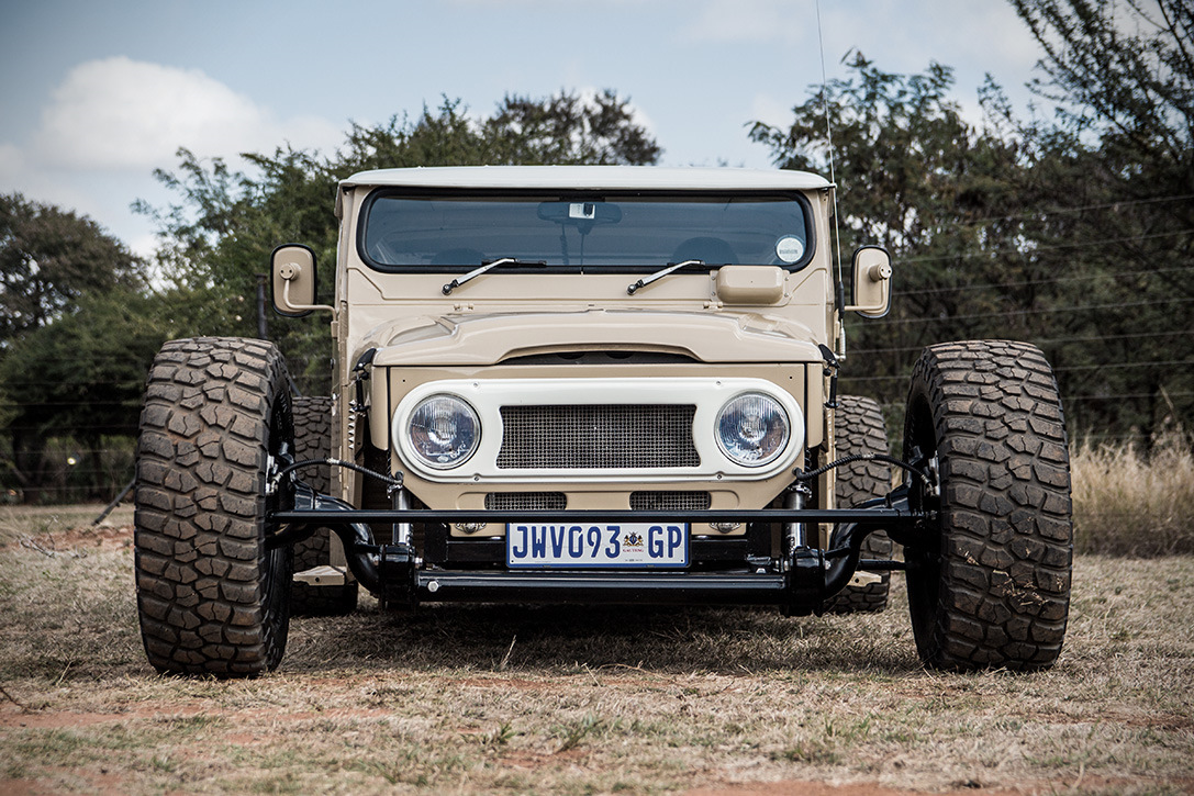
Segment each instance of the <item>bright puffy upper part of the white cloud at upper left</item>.
[{"label": "bright puffy upper part of the white cloud at upper left", "polygon": [[70,70],[43,111],[30,154],[55,168],[146,172],[173,163],[179,147],[230,158],[288,141],[328,147],[338,140],[334,125],[279,121],[197,69],[112,57]]}]

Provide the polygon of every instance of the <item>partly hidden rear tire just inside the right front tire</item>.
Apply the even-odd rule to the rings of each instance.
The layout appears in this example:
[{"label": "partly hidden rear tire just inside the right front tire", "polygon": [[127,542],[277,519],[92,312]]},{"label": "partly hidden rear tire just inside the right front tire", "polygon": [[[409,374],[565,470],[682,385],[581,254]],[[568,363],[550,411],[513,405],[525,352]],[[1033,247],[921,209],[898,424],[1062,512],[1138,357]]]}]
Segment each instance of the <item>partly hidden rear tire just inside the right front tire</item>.
[{"label": "partly hidden rear tire just inside the right front tire", "polygon": [[[837,457],[862,453],[887,453],[887,432],[884,413],[879,405],[857,395],[837,399],[833,421],[836,428]],[[837,486],[833,494],[838,508],[849,508],[891,492],[891,471],[880,462],[854,462],[837,469]],[[863,559],[891,559],[892,541],[879,531],[862,543]],[[831,613],[878,612],[887,607],[887,590],[891,574],[884,572],[880,579],[862,586],[847,586],[831,597],[825,610]]]}]

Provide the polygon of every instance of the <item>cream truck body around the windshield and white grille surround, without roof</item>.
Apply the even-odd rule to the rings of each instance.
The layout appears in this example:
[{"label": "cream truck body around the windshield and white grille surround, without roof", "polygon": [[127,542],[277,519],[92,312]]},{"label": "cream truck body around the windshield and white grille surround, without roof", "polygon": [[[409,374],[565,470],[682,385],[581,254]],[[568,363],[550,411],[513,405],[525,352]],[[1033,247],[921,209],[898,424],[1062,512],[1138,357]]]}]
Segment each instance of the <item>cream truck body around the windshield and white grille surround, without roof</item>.
[{"label": "cream truck body around the windshield and white grille surround, without roof", "polygon": [[[688,175],[678,178],[688,179],[694,177],[693,172],[696,169],[679,171],[688,172]],[[591,175],[591,172],[585,173]],[[552,168],[544,174],[558,177],[559,172]],[[694,362],[690,365],[645,368],[652,375],[666,372],[669,376],[698,378],[749,375],[747,377],[770,378],[789,390],[799,403],[805,419],[806,445],[825,444],[826,412],[821,405],[826,382],[821,375],[821,354],[817,344],[826,343],[833,347],[837,332],[832,306],[831,257],[826,245],[830,232],[829,214],[825,211],[829,205],[829,183],[811,175],[805,175],[810,179],[801,183],[805,178],[780,173],[777,179],[781,181],[800,183],[795,185],[789,181],[783,187],[804,190],[813,205],[811,217],[816,248],[812,261],[801,270],[793,272],[780,269],[782,296],[764,304],[761,303],[757,290],[736,290],[736,283],[741,282],[743,274],[734,277],[732,271],[744,266],[720,269],[731,271],[724,280],[728,290],[719,290],[720,270],[709,273],[673,273],[630,296],[627,295],[627,285],[645,276],[646,271],[581,274],[511,273],[499,269],[444,296],[443,285],[455,274],[383,273],[361,260],[356,247],[350,242],[355,240],[358,227],[361,202],[381,183],[358,177],[362,177],[359,184],[353,183],[356,178],[345,181],[337,195],[338,214],[341,216],[341,246],[336,279],[338,311],[333,328],[337,332],[337,356],[340,363],[337,368],[337,390],[341,412],[337,418],[337,427],[340,432],[339,450],[345,458],[359,453],[363,442],[353,439],[355,424],[350,416],[352,413],[347,409],[352,399],[351,368],[357,357],[370,347],[378,348],[375,363],[384,365],[390,374],[387,378],[378,378],[384,372],[378,366],[369,384],[373,403],[370,442],[382,449],[389,446],[389,419],[394,407],[414,381],[530,377],[531,372],[541,378],[605,378],[615,374],[636,377],[642,374],[641,368],[635,370],[634,366],[602,368],[586,374],[581,366],[572,365],[503,364],[512,357],[561,351],[672,353]],[[402,179],[410,179],[410,174]],[[624,187],[616,185],[617,179],[613,179],[611,186]],[[704,186],[709,190],[730,187],[708,183]],[[683,187],[700,186],[690,184]],[[774,288],[768,288],[764,292],[767,298],[775,296]],[[810,365],[807,377],[805,364]],[[418,377],[413,375],[416,370]],[[781,372],[782,376],[777,376]],[[378,412],[381,408],[384,409]],[[356,433],[359,434],[361,424],[356,425]],[[351,445],[353,442],[356,445]],[[401,467],[396,456],[392,464],[400,470],[407,469]],[[429,501],[429,505],[433,501],[443,507],[476,507],[462,504],[462,495],[466,493],[455,487],[435,485],[413,473],[407,479],[412,492]],[[340,496],[355,500],[359,494],[359,477],[344,473],[341,481]],[[733,489],[722,489],[720,494],[733,495],[737,505],[757,508],[768,505],[789,482],[790,468],[777,476],[736,483]],[[716,482],[683,480],[675,482],[673,488],[714,490],[716,486]],[[564,490],[570,500],[573,494],[590,494],[576,483],[552,485],[537,480],[522,487],[506,483],[500,487],[512,490],[528,488]],[[660,483],[657,488],[665,487]],[[498,485],[488,492],[496,489],[499,489]],[[628,499],[632,490],[628,487],[626,492],[616,494]],[[468,494],[485,493],[479,492],[474,485],[473,492]],[[715,498],[714,507],[722,505],[721,499]]]}]

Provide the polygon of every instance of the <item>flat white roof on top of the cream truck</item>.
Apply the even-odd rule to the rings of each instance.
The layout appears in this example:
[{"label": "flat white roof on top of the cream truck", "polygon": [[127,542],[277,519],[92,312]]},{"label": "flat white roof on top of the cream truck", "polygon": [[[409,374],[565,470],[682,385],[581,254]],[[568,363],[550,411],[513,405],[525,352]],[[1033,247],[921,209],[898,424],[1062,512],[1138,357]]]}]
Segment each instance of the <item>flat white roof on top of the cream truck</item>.
[{"label": "flat white roof on top of the cream truck", "polygon": [[807,191],[830,187],[817,174],[753,168],[665,166],[436,166],[359,172],[340,187],[595,189],[681,191]]}]

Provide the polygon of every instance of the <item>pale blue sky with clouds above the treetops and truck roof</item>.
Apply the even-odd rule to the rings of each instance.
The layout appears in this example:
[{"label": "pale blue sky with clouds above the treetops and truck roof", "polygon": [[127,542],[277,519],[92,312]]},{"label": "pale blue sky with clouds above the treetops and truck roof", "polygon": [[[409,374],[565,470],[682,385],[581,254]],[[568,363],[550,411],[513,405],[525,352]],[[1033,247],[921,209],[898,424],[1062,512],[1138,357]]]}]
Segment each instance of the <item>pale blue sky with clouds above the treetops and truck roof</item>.
[{"label": "pale blue sky with clouds above the treetops and truck roof", "polygon": [[[861,50],[888,72],[936,60],[977,119],[985,73],[1018,104],[1039,57],[999,0],[821,0],[825,67]],[[506,93],[613,88],[670,166],[770,167],[746,136],[820,81],[814,0],[0,0],[0,192],[72,208],[139,252],[201,156],[333,149],[350,121],[441,98],[487,115]]]}]

